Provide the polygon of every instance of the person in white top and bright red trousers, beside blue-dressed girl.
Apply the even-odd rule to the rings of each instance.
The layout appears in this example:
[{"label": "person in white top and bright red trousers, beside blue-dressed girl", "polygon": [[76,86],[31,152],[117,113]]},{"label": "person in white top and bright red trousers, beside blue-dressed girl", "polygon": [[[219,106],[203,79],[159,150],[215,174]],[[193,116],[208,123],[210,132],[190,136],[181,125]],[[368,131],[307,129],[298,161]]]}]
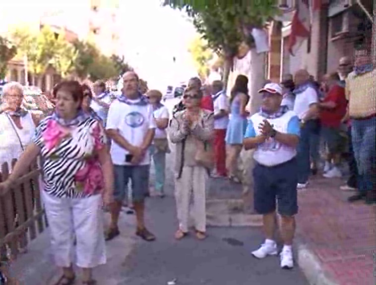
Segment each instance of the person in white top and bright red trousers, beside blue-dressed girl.
[{"label": "person in white top and bright red trousers, beside blue-dressed girl", "polygon": [[212,83],[212,99],[214,106],[214,151],[216,176],[226,177],[226,130],[229,123],[230,103],[223,91],[222,81]]}]

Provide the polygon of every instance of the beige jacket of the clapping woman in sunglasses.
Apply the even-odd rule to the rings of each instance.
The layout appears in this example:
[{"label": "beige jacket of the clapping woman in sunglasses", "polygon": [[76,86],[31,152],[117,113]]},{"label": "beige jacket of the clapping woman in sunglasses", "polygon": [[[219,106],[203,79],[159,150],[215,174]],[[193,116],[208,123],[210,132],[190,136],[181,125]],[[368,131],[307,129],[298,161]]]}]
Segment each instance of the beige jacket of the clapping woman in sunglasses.
[{"label": "beige jacket of the clapping woman in sunglasses", "polygon": [[183,116],[186,110],[175,113],[170,121],[168,134],[172,143],[176,144],[175,173],[180,178],[184,166],[196,166],[194,159],[199,147],[211,149],[214,137],[214,113],[201,111],[201,119],[190,128]]}]

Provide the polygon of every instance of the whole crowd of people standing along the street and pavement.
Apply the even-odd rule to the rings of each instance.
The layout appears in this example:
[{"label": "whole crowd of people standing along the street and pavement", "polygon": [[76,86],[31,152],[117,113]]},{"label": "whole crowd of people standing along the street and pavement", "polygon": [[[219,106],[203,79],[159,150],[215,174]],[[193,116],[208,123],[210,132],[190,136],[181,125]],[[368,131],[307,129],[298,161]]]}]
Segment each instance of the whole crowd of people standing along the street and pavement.
[{"label": "whole crowd of people standing along the street and pavement", "polygon": [[[189,234],[191,205],[194,236],[206,238],[208,178],[242,183],[244,177],[237,169],[240,153],[253,149],[254,208],[263,215],[265,242],[252,255],[264,258],[278,253],[273,239],[278,211],[284,242],[281,267],[290,269],[294,266],[297,193],[309,187],[311,173],[321,173],[321,143],[325,146],[323,176],[342,177],[347,152],[351,175],[342,189],[358,191],[349,201],[375,202],[374,78],[371,56],[361,49],[354,65],[342,58],[338,71],[325,75],[320,84],[304,69],[284,76],[281,83],[266,83],[258,94],[252,94],[262,97],[262,105],[251,116],[246,76],[236,78],[229,97],[221,81],[202,86],[198,78],[192,78],[172,119],[161,103],[161,92],[141,88],[134,72],[124,74],[122,94],[116,97],[106,92],[101,81],[93,88],[76,81],[61,82],[51,95],[55,109],[45,118],[22,110],[22,86],[9,83],[0,113],[0,136],[7,138],[0,139],[0,163],[18,161],[0,190],[10,188],[40,157],[40,188],[53,252],[63,269],[59,284],[75,281],[70,258],[75,250],[83,284],[92,285],[92,269],[106,263],[105,241],[120,235],[118,222],[129,196],[129,181],[135,234],[155,240],[145,225],[145,198],[150,195],[152,161],[152,188],[158,196],[165,195],[168,138],[175,147],[178,240]],[[346,142],[349,147],[344,148]],[[106,231],[103,202],[111,213]]]}]

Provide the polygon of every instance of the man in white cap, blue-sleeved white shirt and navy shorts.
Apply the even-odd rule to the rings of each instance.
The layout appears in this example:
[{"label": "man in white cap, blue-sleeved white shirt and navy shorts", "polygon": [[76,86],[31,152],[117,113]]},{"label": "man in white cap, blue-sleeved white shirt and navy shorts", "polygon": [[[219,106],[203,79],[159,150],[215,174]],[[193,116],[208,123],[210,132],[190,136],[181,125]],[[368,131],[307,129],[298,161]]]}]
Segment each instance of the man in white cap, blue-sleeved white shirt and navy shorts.
[{"label": "man in white cap, blue-sleeved white shirt and navy shorts", "polygon": [[266,236],[265,242],[252,251],[252,255],[256,258],[277,255],[274,230],[278,209],[284,242],[280,253],[281,268],[291,269],[294,266],[294,216],[298,213],[296,147],[299,143],[300,122],[286,105],[281,106],[281,86],[269,83],[259,93],[262,94],[261,110],[251,116],[243,142],[245,149],[255,149],[254,209],[263,215]]}]

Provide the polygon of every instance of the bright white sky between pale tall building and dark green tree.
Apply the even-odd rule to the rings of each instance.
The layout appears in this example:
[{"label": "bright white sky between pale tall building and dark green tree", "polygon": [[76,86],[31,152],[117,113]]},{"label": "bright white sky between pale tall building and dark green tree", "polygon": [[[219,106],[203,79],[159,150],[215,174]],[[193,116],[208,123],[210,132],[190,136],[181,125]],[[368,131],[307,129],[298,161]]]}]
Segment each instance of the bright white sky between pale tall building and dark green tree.
[{"label": "bright white sky between pale tall building and dark green tree", "polygon": [[196,75],[188,53],[196,33],[183,13],[161,7],[159,0],[123,0],[120,14],[125,57],[150,86],[174,85]]}]

